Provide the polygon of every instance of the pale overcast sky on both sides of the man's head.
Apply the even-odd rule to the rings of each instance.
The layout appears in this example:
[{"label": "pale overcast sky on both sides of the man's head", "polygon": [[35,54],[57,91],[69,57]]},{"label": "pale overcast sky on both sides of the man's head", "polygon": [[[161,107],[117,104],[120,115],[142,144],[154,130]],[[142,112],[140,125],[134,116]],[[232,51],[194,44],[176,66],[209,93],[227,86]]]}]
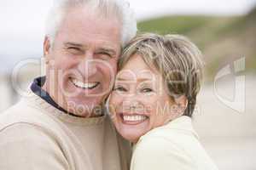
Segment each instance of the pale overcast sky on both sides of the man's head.
[{"label": "pale overcast sky on both sides of the man's head", "polygon": [[[6,65],[13,65],[20,59],[42,55],[44,21],[52,1],[0,1],[2,68],[3,60]],[[163,14],[247,14],[256,0],[129,0],[129,2],[135,10],[137,20],[143,20]]]}]

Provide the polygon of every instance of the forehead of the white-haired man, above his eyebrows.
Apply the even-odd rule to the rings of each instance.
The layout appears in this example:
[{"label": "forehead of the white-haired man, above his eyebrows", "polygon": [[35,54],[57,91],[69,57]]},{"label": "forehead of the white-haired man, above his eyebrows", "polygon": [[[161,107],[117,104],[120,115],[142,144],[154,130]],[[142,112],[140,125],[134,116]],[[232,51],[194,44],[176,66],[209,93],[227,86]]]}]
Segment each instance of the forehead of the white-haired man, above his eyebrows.
[{"label": "forehead of the white-haired man, above his eyebrows", "polygon": [[67,10],[57,37],[64,41],[120,45],[121,25],[117,17],[104,18],[87,7]]}]

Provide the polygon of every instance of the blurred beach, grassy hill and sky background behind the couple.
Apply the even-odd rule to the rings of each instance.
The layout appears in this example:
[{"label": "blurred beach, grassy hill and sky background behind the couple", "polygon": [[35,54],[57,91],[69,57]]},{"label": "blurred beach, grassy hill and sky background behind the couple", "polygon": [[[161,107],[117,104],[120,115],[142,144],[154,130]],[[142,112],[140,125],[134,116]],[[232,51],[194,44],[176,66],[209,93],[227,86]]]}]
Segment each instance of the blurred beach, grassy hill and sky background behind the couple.
[{"label": "blurred beach, grassy hill and sky background behind the couple", "polygon": [[[0,112],[44,72],[52,1],[0,1]],[[183,34],[201,48],[206,65],[195,129],[219,169],[255,170],[256,0],[129,2],[139,31]]]}]

